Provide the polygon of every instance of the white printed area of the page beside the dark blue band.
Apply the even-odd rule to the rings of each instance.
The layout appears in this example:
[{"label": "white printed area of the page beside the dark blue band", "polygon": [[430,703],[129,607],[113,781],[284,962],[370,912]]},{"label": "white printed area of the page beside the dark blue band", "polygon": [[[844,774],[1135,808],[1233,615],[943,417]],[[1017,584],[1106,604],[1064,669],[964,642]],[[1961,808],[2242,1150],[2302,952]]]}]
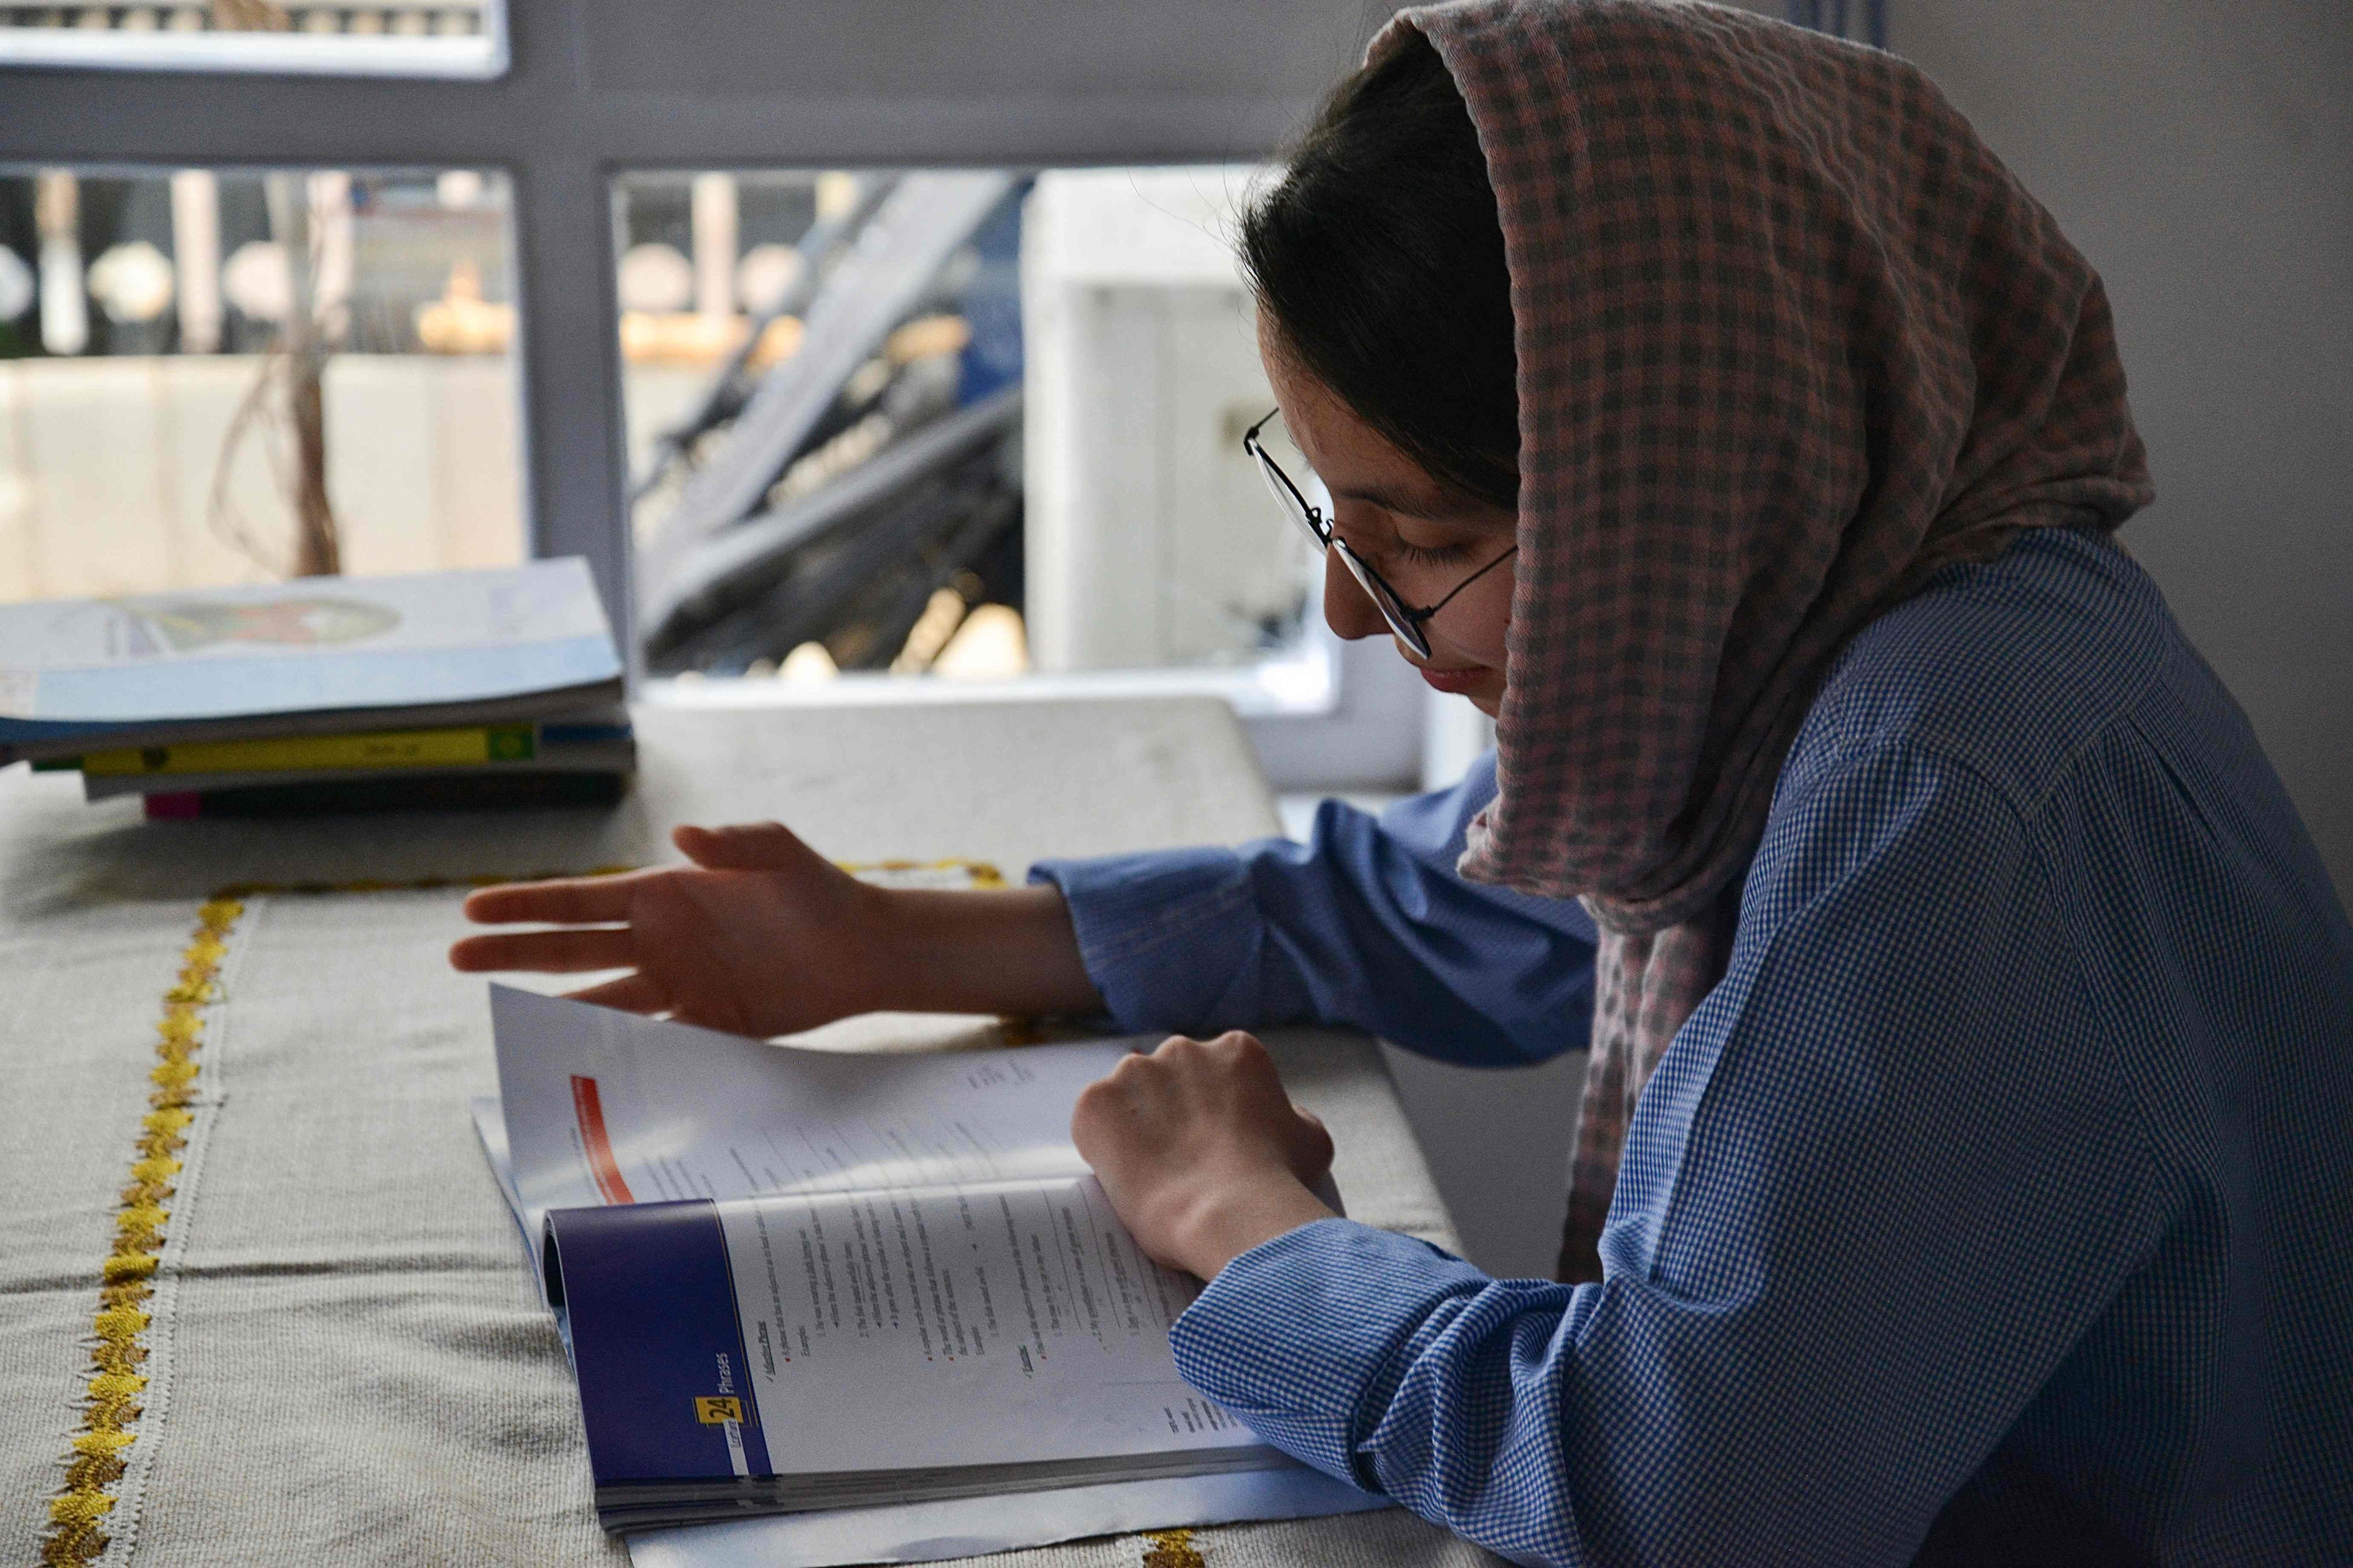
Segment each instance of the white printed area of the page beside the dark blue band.
[{"label": "white printed area of the page beside the dark blue band", "polygon": [[718,1208],[776,1469],[1259,1446],[1176,1375],[1169,1326],[1200,1286],[1136,1248],[1092,1175]]}]

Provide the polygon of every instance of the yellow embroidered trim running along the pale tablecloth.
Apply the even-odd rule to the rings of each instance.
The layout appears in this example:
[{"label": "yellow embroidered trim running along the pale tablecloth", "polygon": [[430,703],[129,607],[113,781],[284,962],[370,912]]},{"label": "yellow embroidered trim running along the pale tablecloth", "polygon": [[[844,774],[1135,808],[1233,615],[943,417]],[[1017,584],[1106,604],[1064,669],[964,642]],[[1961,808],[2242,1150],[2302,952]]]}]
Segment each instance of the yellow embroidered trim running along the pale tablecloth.
[{"label": "yellow embroidered trim running along the pale tablecloth", "polygon": [[[847,870],[951,870],[969,872],[981,889],[1005,886],[1005,875],[981,860],[880,860],[873,867]],[[89,1352],[89,1385],[82,1401],[82,1429],[73,1434],[66,1465],[66,1483],[49,1497],[49,1535],[40,1542],[42,1568],[87,1568],[106,1552],[108,1535],[101,1521],[115,1507],[115,1483],[125,1472],[125,1450],[139,1439],[127,1427],[139,1420],[139,1396],[146,1392],[146,1373],[139,1368],[148,1359],[146,1302],[155,1288],[155,1265],[162,1255],[165,1227],[172,1220],[172,1178],[179,1175],[179,1157],[188,1147],[188,1126],[195,1121],[198,1051],[205,1044],[205,1009],[219,1001],[221,959],[228,957],[228,933],[245,914],[245,900],[256,893],[428,893],[452,886],[501,886],[508,882],[546,882],[551,877],[614,877],[633,870],[628,865],[600,865],[591,872],[534,872],[529,877],[421,877],[416,882],[235,882],[207,898],[195,912],[195,933],[179,959],[179,978],[162,994],[162,1020],[155,1025],[155,1067],[148,1081],[148,1112],[139,1119],[136,1159],[132,1159],[129,1185],[122,1187],[115,1206],[115,1241],[99,1267],[99,1309],[89,1319],[96,1345]],[[1007,1044],[1024,1030],[1019,1020],[1005,1020]],[[1191,1533],[1174,1530],[1172,1535]],[[1160,1537],[1155,1537],[1160,1540]],[[1146,1556],[1146,1568],[1193,1568],[1200,1554],[1181,1547],[1188,1556],[1158,1561]]]}]

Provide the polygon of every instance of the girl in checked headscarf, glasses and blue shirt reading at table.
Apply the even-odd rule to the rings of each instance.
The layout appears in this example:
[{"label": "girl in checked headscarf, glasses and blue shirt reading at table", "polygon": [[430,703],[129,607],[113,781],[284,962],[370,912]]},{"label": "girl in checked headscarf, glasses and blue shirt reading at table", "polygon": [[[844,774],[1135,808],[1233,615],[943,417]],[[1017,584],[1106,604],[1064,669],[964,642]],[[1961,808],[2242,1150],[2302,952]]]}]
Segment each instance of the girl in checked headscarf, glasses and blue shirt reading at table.
[{"label": "girl in checked headscarf, glasses and blue shirt reading at table", "polygon": [[[1341,637],[1497,719],[1306,844],[864,886],[781,825],[475,893],[739,1034],[1174,1034],[1078,1105],[1179,1371],[1522,1563],[2294,1563],[2353,1533],[2353,926],[2113,531],[2097,273],[1904,61],[1414,9],[1242,228]],[[2212,520],[2228,527],[2228,520]],[[1588,1048],[1560,1276],[1313,1194],[1254,1027]],[[1532,1192],[1529,1201],[1548,1201]]]}]

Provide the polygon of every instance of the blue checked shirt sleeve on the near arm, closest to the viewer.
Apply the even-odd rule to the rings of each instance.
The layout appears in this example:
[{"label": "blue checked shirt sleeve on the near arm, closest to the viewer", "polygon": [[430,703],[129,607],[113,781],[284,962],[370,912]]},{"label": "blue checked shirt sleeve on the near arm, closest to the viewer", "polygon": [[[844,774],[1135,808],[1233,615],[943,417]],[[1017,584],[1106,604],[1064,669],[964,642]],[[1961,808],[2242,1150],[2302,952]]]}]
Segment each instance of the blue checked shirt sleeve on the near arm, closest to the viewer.
[{"label": "blue checked shirt sleeve on the near arm, closest to the viewer", "polygon": [[1814,785],[1628,1128],[1600,1284],[1325,1220],[1176,1366],[1520,1563],[1908,1563],[2158,1246],[2158,1175],[2042,867],[1962,764]]}]

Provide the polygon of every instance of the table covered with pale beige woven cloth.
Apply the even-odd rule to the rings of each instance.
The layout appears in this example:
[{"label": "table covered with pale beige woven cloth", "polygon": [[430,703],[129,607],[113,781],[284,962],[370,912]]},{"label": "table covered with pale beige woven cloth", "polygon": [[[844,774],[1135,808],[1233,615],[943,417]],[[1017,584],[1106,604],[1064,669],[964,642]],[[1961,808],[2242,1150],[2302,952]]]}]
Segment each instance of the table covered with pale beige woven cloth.
[{"label": "table covered with pale beige woven cloth", "polygon": [[[144,1385],[108,1387],[144,1413],[111,1455],[120,1479],[66,1502],[115,1497],[101,1563],[626,1561],[593,1523],[562,1349],[466,1119],[494,1074],[482,980],[442,964],[461,889],[252,893],[205,947],[205,922],[224,919],[202,914],[214,889],[642,865],[675,858],[673,823],[767,816],[840,860],[969,856],[1009,877],[1052,853],[1275,832],[1214,701],[645,710],[638,724],[640,783],[612,811],[141,823],[134,804],[85,806],[71,776],[0,776],[12,1556],[49,1533],[92,1345],[118,1345],[118,1373]],[[169,1194],[125,1192],[155,1074],[174,1072],[158,1025],[191,959],[216,999],[179,1009],[202,1018],[186,1107],[169,1112],[181,1168]],[[1372,1041],[1268,1044],[1332,1124],[1353,1213],[1449,1244]],[[101,1321],[122,1237],[132,1255],[151,1239],[153,1276]],[[82,1479],[106,1462],[85,1455]],[[986,1561],[1494,1559],[1391,1509]]]}]

